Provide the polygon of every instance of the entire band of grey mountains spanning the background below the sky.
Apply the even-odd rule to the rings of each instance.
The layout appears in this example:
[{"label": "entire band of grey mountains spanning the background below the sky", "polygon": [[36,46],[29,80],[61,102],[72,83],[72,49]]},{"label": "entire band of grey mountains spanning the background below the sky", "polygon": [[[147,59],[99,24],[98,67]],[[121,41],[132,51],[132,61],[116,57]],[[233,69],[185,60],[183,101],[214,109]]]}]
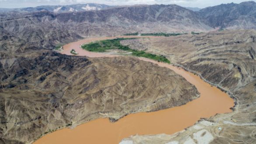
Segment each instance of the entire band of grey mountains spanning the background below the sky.
[{"label": "entire band of grey mountains spanning the background below the sky", "polygon": [[163,4],[122,7],[77,4],[15,10],[0,12],[3,38],[15,36],[44,48],[82,37],[134,32],[190,33],[256,28],[256,3],[253,1],[221,4],[199,11]]}]

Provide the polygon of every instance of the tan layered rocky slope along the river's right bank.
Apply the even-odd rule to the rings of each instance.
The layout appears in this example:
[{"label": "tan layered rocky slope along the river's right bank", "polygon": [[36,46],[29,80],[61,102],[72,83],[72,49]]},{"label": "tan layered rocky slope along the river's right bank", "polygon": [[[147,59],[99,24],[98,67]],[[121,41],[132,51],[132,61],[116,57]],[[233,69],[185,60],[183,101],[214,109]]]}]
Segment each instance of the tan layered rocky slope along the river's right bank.
[{"label": "tan layered rocky slope along the river's right bank", "polygon": [[134,144],[256,143],[256,31],[221,31],[170,38],[141,39],[147,51],[201,75],[235,99],[232,113],[204,119],[178,134],[133,136]]}]

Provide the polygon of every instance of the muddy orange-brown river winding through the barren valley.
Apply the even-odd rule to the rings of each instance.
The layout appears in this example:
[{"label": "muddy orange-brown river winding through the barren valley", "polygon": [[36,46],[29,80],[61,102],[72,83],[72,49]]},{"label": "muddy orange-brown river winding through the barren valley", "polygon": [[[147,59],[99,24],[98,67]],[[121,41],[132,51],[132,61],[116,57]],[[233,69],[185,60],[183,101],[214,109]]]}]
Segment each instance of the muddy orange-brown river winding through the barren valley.
[{"label": "muddy orange-brown river winding through the barren valley", "polygon": [[[89,52],[80,48],[80,45],[86,42],[112,38],[89,38],[76,41],[65,45],[62,54],[72,55],[70,51],[75,49],[81,56],[114,57],[117,55]],[[123,138],[135,134],[173,134],[194,125],[200,118],[232,111],[230,108],[234,106],[233,99],[220,89],[204,82],[200,77],[166,63],[156,62],[147,58],[139,59],[156,63],[180,74],[188,82],[196,86],[199,93],[201,93],[200,98],[183,106],[166,110],[130,114],[115,123],[109,122],[107,118],[92,120],[73,129],[64,128],[47,134],[35,141],[34,144],[118,144]]]}]

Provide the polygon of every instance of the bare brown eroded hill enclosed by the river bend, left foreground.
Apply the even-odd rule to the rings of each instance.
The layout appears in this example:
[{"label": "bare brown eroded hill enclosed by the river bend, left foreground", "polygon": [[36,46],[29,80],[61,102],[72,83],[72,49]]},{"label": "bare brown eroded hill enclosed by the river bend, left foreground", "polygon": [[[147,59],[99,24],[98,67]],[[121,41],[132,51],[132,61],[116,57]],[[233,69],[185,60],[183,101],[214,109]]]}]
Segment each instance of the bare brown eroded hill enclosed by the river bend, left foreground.
[{"label": "bare brown eroded hill enclosed by the river bend, left foreground", "polygon": [[[5,38],[5,37],[4,37]],[[4,42],[3,42],[4,41]],[[0,58],[0,143],[30,143],[53,130],[100,117],[183,105],[197,89],[170,69],[137,58],[86,58],[25,48]],[[19,49],[19,48],[18,48]],[[0,52],[1,52],[0,51]]]}]

